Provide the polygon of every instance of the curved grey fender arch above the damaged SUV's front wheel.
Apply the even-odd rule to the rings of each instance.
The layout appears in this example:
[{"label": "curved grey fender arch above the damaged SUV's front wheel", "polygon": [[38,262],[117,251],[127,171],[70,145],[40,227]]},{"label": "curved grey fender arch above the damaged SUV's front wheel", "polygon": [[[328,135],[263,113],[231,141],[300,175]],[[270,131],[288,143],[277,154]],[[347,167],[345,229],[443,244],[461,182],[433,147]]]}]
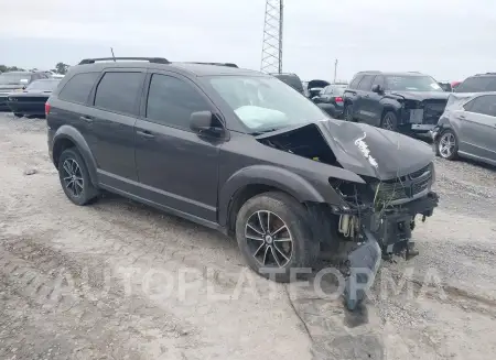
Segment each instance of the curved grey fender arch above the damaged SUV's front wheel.
[{"label": "curved grey fender arch above the damaged SUV's front wheel", "polygon": [[[326,182],[328,181],[326,179]],[[312,183],[289,170],[271,165],[252,165],[234,173],[220,188],[218,196],[220,226],[227,223],[229,205],[236,192],[251,184],[273,186],[290,194],[301,203],[328,203],[330,200],[337,204],[342,203],[341,197],[328,183],[325,184],[326,194],[322,194]]]}]

